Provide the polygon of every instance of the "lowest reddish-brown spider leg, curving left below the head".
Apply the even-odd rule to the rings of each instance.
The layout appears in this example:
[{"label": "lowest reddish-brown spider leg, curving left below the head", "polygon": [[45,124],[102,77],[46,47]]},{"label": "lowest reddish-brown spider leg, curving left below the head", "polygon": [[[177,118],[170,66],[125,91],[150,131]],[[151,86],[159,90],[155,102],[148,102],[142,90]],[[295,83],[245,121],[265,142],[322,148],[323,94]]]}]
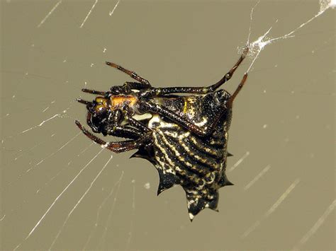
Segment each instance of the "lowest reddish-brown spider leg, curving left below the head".
[{"label": "lowest reddish-brown spider leg, curving left below the head", "polygon": [[120,142],[106,142],[103,139],[99,139],[99,137],[91,134],[85,127],[82,126],[79,121],[75,120],[75,123],[79,129],[92,141],[96,142],[96,144],[100,144],[102,147],[108,148],[108,150],[113,151],[114,153],[122,153],[125,151],[130,151],[135,148],[139,148],[140,146],[147,143],[148,139],[150,139],[150,134],[145,134],[140,139],[130,140],[130,141],[120,141]]}]

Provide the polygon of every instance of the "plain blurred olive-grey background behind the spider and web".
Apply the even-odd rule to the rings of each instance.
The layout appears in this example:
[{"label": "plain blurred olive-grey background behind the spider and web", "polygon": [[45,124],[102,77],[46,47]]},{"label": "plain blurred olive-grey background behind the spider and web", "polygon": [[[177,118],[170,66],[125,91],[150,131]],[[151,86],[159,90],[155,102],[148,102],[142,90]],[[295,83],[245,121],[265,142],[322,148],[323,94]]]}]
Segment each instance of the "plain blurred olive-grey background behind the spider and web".
[{"label": "plain blurred olive-grey background behind the spider and web", "polygon": [[[111,152],[74,125],[86,112],[74,100],[93,98],[81,88],[130,80],[106,60],[153,86],[218,81],[256,3],[122,0],[110,16],[115,0],[2,0],[1,250],[335,250],[335,9],[259,54],[235,102],[235,186],[220,189],[218,213],[190,223],[181,187],[157,197],[157,171],[132,152],[113,154],[94,180]],[[271,26],[270,37],[289,33],[319,10],[260,1],[250,40]]]}]

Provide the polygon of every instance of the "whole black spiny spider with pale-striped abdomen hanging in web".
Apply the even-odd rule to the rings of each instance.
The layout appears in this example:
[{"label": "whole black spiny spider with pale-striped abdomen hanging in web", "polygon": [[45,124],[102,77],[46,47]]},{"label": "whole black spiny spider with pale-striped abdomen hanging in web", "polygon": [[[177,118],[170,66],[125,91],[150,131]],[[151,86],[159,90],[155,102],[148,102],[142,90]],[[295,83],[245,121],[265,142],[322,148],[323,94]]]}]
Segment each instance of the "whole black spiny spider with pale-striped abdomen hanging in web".
[{"label": "whole black spiny spider with pale-striped abdomen hanging in web", "polygon": [[217,210],[218,189],[233,185],[225,175],[228,130],[233,101],[247,79],[244,74],[233,95],[218,90],[248,53],[217,83],[207,87],[154,88],[134,71],[106,62],[135,79],[110,91],[82,89],[98,95],[86,105],[86,123],[92,132],[118,136],[125,141],[106,142],[77,120],[77,127],[96,144],[115,153],[138,149],[130,158],[149,160],[159,173],[157,194],[174,185],[186,192],[189,218],[205,208]]}]

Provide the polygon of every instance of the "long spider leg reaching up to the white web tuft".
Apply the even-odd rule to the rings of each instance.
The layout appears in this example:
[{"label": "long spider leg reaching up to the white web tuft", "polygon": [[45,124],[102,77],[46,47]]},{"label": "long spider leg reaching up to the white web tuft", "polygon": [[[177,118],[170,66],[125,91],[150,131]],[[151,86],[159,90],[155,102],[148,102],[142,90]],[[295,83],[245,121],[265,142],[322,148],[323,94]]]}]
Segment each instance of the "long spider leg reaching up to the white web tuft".
[{"label": "long spider leg reaching up to the white web tuft", "polygon": [[233,76],[233,73],[235,70],[240,66],[242,61],[245,59],[247,53],[249,52],[249,48],[246,47],[242,54],[240,55],[240,58],[238,61],[235,63],[235,65],[228,71],[227,74],[223,76],[223,78],[220,79],[217,83],[214,83],[211,86],[207,87],[166,87],[166,88],[153,88],[148,91],[145,91],[142,96],[147,98],[152,95],[167,95],[167,94],[172,94],[172,93],[195,93],[195,94],[206,94],[206,93],[212,93],[215,91],[217,88],[219,88],[223,83],[226,81],[229,81],[230,78]]}]

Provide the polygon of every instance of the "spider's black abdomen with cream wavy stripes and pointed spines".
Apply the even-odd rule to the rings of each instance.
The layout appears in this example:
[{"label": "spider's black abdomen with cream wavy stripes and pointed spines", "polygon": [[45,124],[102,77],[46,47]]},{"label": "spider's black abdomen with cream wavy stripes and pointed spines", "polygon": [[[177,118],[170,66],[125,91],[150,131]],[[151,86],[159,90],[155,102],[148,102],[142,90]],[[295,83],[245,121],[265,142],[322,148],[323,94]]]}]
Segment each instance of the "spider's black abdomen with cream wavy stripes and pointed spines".
[{"label": "spider's black abdomen with cream wavy stripes and pointed spines", "polygon": [[148,125],[153,134],[155,168],[159,171],[158,193],[181,185],[191,219],[206,207],[215,210],[218,189],[231,185],[225,176],[228,141],[225,125],[206,137],[197,136],[160,115],[154,115]]}]

